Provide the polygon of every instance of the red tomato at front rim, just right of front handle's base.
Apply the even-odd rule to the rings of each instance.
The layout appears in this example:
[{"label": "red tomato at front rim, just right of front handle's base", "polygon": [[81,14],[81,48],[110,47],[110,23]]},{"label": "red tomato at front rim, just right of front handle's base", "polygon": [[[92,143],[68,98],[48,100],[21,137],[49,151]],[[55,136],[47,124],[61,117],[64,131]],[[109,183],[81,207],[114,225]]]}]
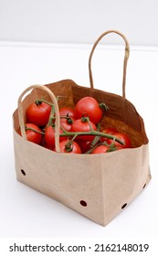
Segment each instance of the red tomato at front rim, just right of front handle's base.
[{"label": "red tomato at front rim, just right of front handle's base", "polygon": [[64,140],[59,143],[59,148],[61,153],[81,154],[79,144],[74,141],[72,142],[72,144],[69,144],[68,140]]}]

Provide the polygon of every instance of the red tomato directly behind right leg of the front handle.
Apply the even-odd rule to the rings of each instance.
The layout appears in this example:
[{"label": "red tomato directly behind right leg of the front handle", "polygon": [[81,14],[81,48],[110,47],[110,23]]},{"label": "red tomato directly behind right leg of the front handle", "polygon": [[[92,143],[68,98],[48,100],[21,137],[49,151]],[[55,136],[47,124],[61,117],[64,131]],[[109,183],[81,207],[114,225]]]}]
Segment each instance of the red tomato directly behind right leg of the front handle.
[{"label": "red tomato directly behind right leg of the front handle", "polygon": [[[63,133],[62,129],[59,129],[59,133]],[[63,141],[67,138],[67,136],[60,136],[59,141]],[[55,130],[52,126],[47,126],[45,129],[45,141],[47,144],[47,147],[54,148],[55,147]]]}]

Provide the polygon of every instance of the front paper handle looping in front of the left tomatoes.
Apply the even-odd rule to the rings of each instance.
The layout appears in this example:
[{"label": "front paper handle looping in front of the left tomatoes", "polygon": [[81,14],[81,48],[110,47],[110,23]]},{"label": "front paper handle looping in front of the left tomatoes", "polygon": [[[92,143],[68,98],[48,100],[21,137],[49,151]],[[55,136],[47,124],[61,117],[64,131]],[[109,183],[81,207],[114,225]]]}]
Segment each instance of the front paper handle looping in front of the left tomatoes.
[{"label": "front paper handle looping in front of the left tomatoes", "polygon": [[54,103],[55,112],[56,112],[56,123],[55,123],[55,146],[56,151],[60,152],[59,148],[59,127],[60,127],[60,119],[59,119],[59,111],[58,111],[58,101],[52,91],[50,91],[46,86],[44,85],[31,85],[26,88],[25,91],[21,93],[21,95],[18,98],[17,104],[18,104],[18,118],[19,118],[19,124],[21,129],[22,137],[26,140],[26,129],[25,129],[25,122],[24,122],[24,112],[22,107],[22,98],[26,94],[27,91],[30,91],[32,89],[40,89],[43,91],[46,91],[47,94],[50,96],[51,101]]}]

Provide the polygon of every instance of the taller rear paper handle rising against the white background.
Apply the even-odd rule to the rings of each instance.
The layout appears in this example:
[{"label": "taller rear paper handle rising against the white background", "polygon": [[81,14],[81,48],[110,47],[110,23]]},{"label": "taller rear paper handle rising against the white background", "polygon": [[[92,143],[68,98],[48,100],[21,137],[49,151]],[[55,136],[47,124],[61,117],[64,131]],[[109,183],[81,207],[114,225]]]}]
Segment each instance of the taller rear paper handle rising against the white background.
[{"label": "taller rear paper handle rising against the white background", "polygon": [[92,55],[93,55],[93,52],[95,50],[95,48],[97,47],[98,43],[100,42],[100,39],[102,37],[105,37],[107,34],[110,34],[110,33],[116,33],[118,34],[119,36],[121,36],[124,41],[125,41],[125,55],[124,55],[124,63],[123,63],[123,79],[122,79],[122,97],[125,98],[125,84],[126,84],[126,69],[127,69],[127,60],[129,59],[129,55],[130,55],[130,45],[128,43],[128,40],[127,38],[121,34],[120,31],[117,31],[117,30],[108,30],[104,33],[102,33],[100,35],[100,37],[96,40],[96,42],[94,43],[93,45],[93,48],[91,49],[91,52],[90,52],[90,58],[89,58],[89,74],[90,74],[90,88],[93,89],[94,86],[93,86],[93,78],[92,78],[92,72],[91,72],[91,59],[92,59]]}]

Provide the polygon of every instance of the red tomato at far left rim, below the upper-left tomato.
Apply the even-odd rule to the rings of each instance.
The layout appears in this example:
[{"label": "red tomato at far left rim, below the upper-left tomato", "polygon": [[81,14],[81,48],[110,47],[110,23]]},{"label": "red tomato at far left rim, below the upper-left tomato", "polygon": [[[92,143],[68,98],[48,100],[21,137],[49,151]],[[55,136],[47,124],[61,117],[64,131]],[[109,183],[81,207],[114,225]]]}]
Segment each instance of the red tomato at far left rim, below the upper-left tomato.
[{"label": "red tomato at far left rim, below the upper-left tomato", "polygon": [[[26,123],[26,128],[32,128],[38,132],[41,132],[39,127],[34,123]],[[40,144],[42,141],[42,134],[32,130],[26,130],[26,139],[29,142]]]}]

